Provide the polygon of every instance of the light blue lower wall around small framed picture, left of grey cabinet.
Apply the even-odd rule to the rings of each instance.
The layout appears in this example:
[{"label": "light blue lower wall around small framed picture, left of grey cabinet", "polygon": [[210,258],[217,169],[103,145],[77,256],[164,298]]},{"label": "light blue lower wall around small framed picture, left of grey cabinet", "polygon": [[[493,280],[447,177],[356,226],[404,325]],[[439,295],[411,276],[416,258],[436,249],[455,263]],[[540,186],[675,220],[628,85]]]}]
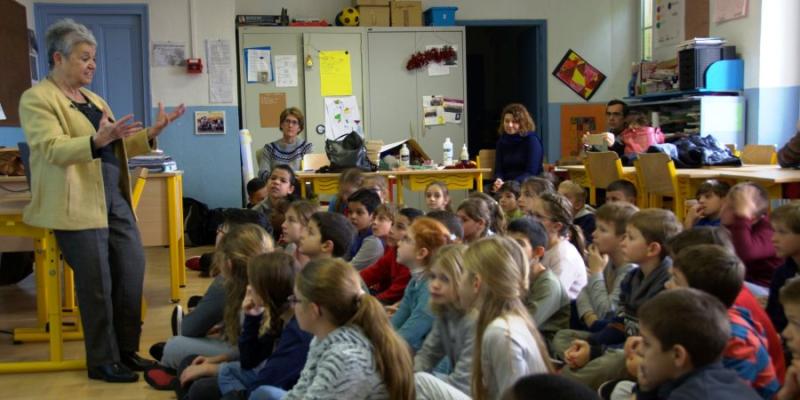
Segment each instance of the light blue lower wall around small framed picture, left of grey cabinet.
[{"label": "light blue lower wall around small framed picture, left of grey cabinet", "polygon": [[[242,207],[238,106],[189,106],[158,137],[158,147],[183,170],[183,195],[209,207]],[[195,111],[225,111],[225,135],[195,135]],[[152,108],[155,120],[158,108]],[[167,111],[169,112],[169,110]]]}]

